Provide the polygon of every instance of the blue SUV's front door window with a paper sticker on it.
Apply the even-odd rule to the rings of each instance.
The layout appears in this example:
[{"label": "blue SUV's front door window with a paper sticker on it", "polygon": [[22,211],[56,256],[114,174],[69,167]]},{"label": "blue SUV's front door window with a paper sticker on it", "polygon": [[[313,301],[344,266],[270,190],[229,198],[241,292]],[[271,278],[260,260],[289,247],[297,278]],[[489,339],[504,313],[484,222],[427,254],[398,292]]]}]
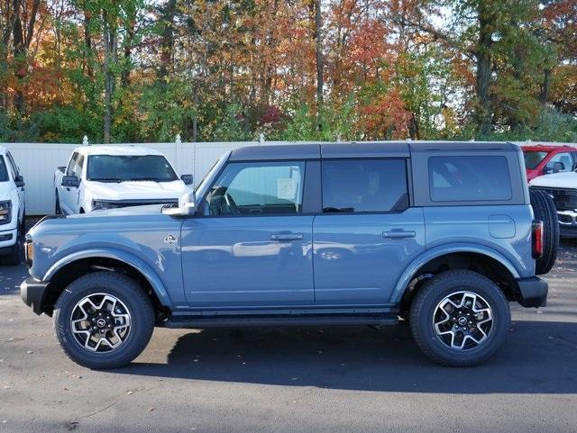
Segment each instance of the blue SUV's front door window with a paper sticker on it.
[{"label": "blue SUV's front door window with a paper sticker on it", "polygon": [[301,212],[303,162],[228,164],[206,197],[209,215]]}]

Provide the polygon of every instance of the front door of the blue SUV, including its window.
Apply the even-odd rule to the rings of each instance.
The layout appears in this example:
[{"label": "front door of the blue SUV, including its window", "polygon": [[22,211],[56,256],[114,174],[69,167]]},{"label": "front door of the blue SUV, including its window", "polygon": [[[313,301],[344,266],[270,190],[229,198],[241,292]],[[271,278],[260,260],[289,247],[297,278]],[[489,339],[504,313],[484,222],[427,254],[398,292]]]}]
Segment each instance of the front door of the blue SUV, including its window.
[{"label": "front door of the blue SUV, including its window", "polygon": [[305,163],[230,162],[182,226],[193,308],[314,303],[313,216],[302,214]]}]

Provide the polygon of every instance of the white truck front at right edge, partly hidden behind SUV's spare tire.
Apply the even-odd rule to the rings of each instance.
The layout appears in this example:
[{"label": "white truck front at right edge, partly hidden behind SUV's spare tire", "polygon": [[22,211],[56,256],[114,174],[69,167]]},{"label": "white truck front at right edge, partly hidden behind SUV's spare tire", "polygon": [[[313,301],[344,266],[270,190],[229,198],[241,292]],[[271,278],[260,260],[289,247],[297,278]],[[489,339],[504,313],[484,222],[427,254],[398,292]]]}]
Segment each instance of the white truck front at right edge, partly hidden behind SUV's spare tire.
[{"label": "white truck front at right edge, partly hidden behind SUV's spare tire", "polygon": [[538,176],[529,186],[553,198],[561,236],[577,238],[577,173],[569,171]]}]

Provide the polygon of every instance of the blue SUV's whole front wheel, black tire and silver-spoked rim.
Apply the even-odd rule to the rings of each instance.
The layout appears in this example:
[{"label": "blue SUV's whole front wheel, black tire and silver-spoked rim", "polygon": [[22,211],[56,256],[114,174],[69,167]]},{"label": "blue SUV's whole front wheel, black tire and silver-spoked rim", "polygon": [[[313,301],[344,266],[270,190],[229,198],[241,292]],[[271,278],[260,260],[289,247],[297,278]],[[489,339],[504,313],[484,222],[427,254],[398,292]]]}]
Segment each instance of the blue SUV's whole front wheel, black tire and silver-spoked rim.
[{"label": "blue SUV's whole front wheel, black tire and silver-spoked rim", "polygon": [[148,294],[128,276],[108,271],[69,284],[52,318],[64,353],[95,369],[129,364],[146,347],[154,328]]}]

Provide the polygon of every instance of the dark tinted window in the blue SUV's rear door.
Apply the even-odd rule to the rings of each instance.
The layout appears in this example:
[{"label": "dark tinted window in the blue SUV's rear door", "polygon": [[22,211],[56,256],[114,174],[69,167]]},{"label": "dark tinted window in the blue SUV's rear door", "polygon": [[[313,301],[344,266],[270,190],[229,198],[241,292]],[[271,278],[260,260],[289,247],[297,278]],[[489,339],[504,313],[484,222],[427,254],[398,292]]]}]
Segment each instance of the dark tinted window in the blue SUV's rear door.
[{"label": "dark tinted window in the blue SUV's rear door", "polygon": [[323,161],[323,212],[391,212],[407,207],[403,159]]}]

